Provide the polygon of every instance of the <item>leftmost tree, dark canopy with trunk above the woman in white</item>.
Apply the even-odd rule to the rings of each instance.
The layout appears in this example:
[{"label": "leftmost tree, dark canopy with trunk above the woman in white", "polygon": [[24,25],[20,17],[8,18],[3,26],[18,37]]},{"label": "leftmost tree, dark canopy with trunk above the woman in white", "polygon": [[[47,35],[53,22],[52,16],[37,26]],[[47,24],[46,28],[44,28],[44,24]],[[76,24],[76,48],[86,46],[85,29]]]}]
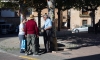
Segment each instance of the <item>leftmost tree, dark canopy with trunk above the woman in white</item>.
[{"label": "leftmost tree, dark canopy with trunk above the woman in white", "polygon": [[[8,1],[2,1],[1,2],[1,7],[2,9],[5,9],[5,8],[10,8],[12,10],[19,10],[19,16],[21,16],[20,18],[20,21],[23,19],[23,18],[26,18],[26,9],[27,9],[27,6],[26,6],[26,0],[8,0]],[[20,6],[20,7],[19,7]]]}]

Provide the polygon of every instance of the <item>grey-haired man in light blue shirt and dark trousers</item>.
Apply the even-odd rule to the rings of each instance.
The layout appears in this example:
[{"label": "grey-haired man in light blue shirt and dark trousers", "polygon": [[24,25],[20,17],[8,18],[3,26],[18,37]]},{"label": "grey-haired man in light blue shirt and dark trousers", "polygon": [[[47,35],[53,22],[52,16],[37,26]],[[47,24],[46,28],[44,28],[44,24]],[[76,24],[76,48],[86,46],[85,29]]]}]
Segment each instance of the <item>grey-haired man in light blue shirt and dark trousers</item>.
[{"label": "grey-haired man in light blue shirt and dark trousers", "polygon": [[50,52],[52,50],[52,41],[51,41],[52,21],[48,18],[47,15],[44,15],[43,19],[45,20],[45,23],[43,26],[45,52]]}]

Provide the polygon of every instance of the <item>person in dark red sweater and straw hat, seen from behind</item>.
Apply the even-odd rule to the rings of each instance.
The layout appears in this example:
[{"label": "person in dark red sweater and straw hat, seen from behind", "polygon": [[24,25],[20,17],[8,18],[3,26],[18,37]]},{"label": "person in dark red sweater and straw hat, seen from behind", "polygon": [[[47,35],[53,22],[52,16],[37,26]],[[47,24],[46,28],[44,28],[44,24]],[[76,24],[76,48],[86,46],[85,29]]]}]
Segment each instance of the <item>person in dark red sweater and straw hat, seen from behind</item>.
[{"label": "person in dark red sweater and straw hat, seen from behind", "polygon": [[36,37],[39,37],[39,31],[37,23],[34,20],[34,15],[30,15],[29,20],[25,25],[25,35],[27,36],[27,51],[26,55],[29,55],[30,45],[32,44],[33,56],[38,56],[38,51],[36,47]]}]

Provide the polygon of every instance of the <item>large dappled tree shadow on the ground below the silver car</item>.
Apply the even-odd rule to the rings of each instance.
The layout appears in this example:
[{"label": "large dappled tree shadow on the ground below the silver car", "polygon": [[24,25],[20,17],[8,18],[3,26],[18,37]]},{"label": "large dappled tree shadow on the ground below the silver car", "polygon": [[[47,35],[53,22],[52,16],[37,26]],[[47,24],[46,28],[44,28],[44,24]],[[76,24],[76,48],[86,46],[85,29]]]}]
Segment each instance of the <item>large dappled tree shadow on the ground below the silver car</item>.
[{"label": "large dappled tree shadow on the ground below the silver car", "polygon": [[100,34],[93,33],[70,33],[70,31],[64,30],[57,33],[57,39],[65,45],[77,45],[76,48],[73,47],[72,49],[100,45]]}]

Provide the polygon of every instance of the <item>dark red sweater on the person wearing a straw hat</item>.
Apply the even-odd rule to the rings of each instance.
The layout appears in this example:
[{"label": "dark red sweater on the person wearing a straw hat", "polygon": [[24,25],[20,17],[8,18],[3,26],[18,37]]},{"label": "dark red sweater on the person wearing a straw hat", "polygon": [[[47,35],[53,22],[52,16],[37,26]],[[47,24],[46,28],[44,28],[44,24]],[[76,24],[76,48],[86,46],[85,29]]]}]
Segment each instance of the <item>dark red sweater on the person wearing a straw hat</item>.
[{"label": "dark red sweater on the person wearing a straw hat", "polygon": [[27,35],[27,34],[39,35],[37,23],[33,19],[28,20],[25,24],[25,35]]}]

